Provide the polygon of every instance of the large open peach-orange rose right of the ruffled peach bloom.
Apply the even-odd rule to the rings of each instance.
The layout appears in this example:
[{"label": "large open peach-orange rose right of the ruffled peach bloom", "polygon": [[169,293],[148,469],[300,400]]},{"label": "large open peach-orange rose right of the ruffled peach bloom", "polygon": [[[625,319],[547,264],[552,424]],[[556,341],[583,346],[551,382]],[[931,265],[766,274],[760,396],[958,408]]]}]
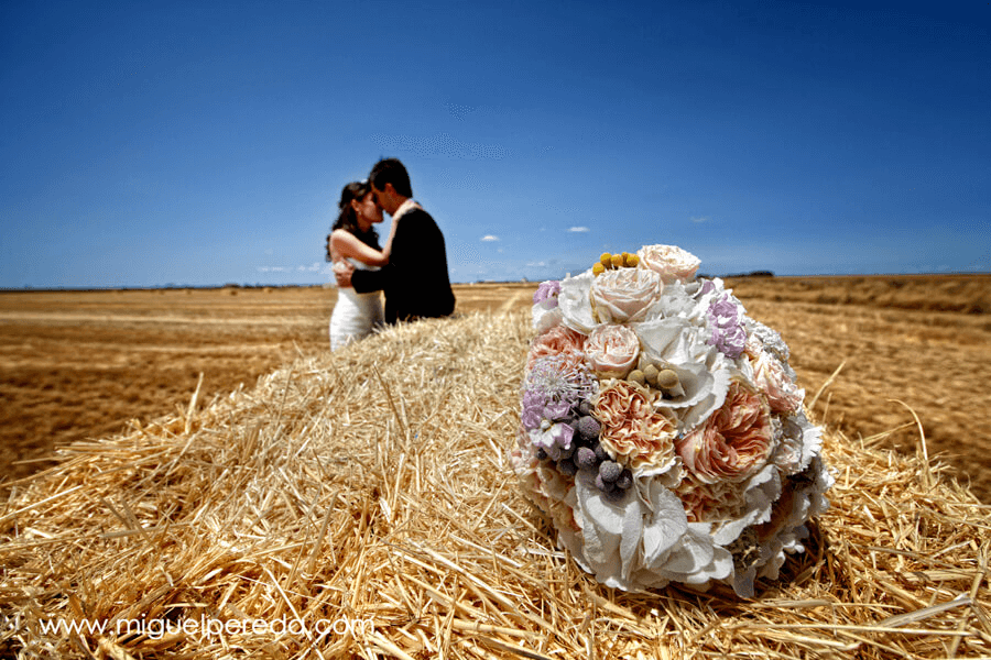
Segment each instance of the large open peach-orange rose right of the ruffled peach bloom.
[{"label": "large open peach-orange rose right of the ruffled peach bloom", "polygon": [[741,482],[767,462],[773,435],[766,398],[733,381],[722,407],[678,440],[677,449],[700,482]]}]

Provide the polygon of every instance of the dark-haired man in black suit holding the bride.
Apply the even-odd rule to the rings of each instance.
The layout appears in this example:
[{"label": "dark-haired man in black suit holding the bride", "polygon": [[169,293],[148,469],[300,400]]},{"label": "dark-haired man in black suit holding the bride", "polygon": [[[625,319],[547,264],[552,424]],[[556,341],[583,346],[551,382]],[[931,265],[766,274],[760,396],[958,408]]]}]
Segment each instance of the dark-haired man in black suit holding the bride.
[{"label": "dark-haired man in black suit holding the bride", "polygon": [[368,177],[375,202],[398,223],[389,264],[379,271],[335,270],[337,285],[359,294],[385,293],[385,322],[445,317],[455,296],[447,275],[447,253],[440,228],[413,201],[406,168],[396,158],[375,163]]}]

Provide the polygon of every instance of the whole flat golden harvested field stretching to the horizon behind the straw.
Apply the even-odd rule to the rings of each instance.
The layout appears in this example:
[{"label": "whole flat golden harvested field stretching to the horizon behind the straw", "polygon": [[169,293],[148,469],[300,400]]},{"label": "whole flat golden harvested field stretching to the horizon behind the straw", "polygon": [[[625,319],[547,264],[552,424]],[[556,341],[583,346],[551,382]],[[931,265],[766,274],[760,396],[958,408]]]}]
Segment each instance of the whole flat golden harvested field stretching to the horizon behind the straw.
[{"label": "whole flat golden harvested field stretching to the horizon behind the straw", "polygon": [[[851,438],[919,416],[941,453],[991,502],[991,275],[742,277],[748,312],[777,329],[815,413]],[[459,285],[457,311],[522,310],[535,284]],[[0,476],[53,447],[209,400],[328,350],[336,292],[311,288],[0,293]],[[522,365],[521,365],[522,366]],[[914,450],[916,429],[883,442]],[[23,463],[23,461],[30,461]]]}]

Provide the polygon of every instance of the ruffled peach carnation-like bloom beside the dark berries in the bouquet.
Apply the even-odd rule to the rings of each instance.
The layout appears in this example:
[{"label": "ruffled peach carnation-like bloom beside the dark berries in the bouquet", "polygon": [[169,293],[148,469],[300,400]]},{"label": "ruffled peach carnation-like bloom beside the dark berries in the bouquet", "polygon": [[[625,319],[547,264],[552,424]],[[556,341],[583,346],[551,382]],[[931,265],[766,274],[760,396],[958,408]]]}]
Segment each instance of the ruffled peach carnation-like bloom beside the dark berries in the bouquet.
[{"label": "ruffled peach carnation-like bloom beside the dark berries in the bouquet", "polygon": [[592,404],[602,447],[631,470],[666,472],[675,464],[675,422],[654,409],[660,394],[629,381],[606,381]]}]

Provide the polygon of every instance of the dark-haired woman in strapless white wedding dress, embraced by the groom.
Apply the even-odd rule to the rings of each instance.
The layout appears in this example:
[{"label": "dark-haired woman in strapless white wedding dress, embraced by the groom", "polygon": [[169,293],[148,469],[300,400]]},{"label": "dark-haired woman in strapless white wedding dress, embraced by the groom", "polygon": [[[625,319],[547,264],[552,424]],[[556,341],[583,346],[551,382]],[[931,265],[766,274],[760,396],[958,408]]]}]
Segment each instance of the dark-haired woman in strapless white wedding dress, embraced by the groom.
[{"label": "dark-haired woman in strapless white wedding dress, embraced by the groom", "polygon": [[[361,270],[378,270],[389,263],[396,221],[392,221],[385,248],[380,248],[372,226],[382,222],[382,208],[375,204],[371,185],[367,180],[348,184],[337,206],[340,212],[328,239],[330,261],[347,261]],[[330,350],[368,337],[383,322],[382,292],[359,294],[351,287],[338,287],[330,315]]]}]

